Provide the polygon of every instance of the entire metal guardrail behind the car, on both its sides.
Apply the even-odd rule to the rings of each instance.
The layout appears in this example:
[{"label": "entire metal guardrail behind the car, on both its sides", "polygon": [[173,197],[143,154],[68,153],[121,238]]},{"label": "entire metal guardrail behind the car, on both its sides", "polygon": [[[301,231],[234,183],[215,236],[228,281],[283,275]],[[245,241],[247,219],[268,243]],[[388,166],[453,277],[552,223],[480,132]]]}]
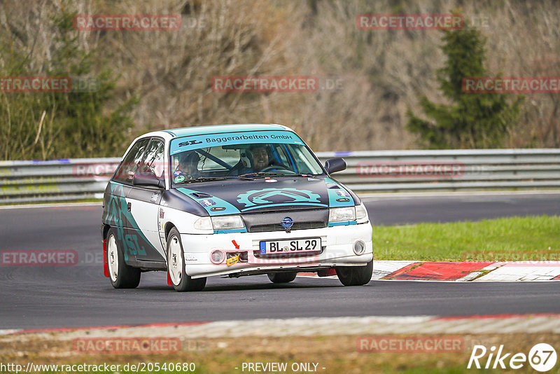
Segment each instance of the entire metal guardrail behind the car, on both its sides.
[{"label": "entire metal guardrail behind the car, on both its sides", "polygon": [[[353,191],[560,189],[560,149],[357,151],[335,178]],[[0,162],[0,204],[100,199],[120,158]]]}]

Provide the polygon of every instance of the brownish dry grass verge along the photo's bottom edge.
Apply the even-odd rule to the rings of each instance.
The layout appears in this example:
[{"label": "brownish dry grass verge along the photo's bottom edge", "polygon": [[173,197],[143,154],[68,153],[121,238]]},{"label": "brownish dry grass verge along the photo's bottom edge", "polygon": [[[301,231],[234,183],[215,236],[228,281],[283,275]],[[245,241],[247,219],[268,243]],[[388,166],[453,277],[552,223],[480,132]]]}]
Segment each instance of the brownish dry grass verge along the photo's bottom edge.
[{"label": "brownish dry grass verge along the photo's bottom edge", "polygon": [[[371,335],[370,335],[371,336]],[[416,335],[419,336],[419,335]],[[431,338],[441,338],[444,335]],[[196,345],[183,345],[183,349],[173,354],[79,354],[71,340],[28,339],[10,341],[0,339],[0,358],[3,363],[18,363],[27,366],[34,364],[120,364],[118,373],[131,373],[123,370],[126,363],[195,363],[195,370],[172,371],[176,373],[248,373],[242,370],[243,363],[286,363],[288,370],[283,373],[535,373],[526,362],[521,370],[477,370],[467,368],[472,349],[475,345],[499,347],[504,345],[505,352],[528,354],[533,345],[547,342],[553,347],[560,345],[560,335],[553,333],[533,334],[486,334],[454,335],[463,340],[461,349],[456,352],[359,352],[357,335],[335,335],[282,338],[211,338],[198,339]],[[407,339],[407,335],[393,335],[393,338]],[[182,339],[183,340],[183,339]],[[187,349],[186,347],[197,347]],[[505,360],[509,363],[510,356]],[[489,356],[481,359],[482,365]],[[316,363],[315,370],[290,370],[293,364]],[[493,365],[491,361],[490,367]],[[299,366],[302,368],[302,366]],[[237,369],[236,369],[237,368]],[[559,365],[549,373],[558,373]],[[141,370],[140,370],[141,371]],[[102,371],[104,372],[104,371]],[[169,370],[153,370],[153,373],[169,373]],[[44,370],[39,373],[60,373]],[[84,370],[81,373],[92,373]],[[105,371],[105,373],[108,373]],[[114,372],[113,372],[114,373]]]}]

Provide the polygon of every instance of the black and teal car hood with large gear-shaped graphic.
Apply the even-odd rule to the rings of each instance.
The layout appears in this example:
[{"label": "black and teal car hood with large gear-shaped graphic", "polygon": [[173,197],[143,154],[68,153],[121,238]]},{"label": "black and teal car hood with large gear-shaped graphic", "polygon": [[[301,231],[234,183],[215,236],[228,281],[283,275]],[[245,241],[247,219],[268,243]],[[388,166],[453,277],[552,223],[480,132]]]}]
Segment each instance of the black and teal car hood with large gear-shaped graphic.
[{"label": "black and teal car hood with large gear-shaped graphic", "polygon": [[350,207],[359,202],[341,183],[325,177],[271,177],[189,183],[176,188],[211,216],[274,210]]}]

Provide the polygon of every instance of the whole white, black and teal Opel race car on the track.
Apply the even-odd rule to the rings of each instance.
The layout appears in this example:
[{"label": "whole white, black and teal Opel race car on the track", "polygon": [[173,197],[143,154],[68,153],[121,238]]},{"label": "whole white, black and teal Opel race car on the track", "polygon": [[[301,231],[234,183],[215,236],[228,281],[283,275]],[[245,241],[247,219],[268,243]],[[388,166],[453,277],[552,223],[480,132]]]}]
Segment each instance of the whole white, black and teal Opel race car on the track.
[{"label": "whole white, black and teal Opel race car on the track", "polygon": [[282,125],[217,125],[135,139],[104,193],[104,270],[116,288],[167,270],[177,291],[212,275],[372,276],[372,226],[359,198]]}]

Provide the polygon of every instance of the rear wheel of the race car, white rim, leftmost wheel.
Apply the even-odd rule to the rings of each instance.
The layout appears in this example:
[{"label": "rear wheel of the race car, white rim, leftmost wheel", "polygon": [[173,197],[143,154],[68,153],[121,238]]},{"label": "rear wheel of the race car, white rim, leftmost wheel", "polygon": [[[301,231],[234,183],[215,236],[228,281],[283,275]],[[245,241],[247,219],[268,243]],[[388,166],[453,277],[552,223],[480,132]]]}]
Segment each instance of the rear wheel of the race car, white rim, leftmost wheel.
[{"label": "rear wheel of the race car, white rim, leftmost wheel", "polygon": [[[109,246],[113,244],[111,240],[115,240],[116,249],[110,250]],[[115,253],[116,252],[116,253]],[[116,258],[113,256],[116,255]],[[115,261],[116,260],[116,261]],[[141,271],[125,263],[125,254],[123,247],[117,240],[116,230],[110,228],[107,233],[107,266],[109,268],[109,280],[116,289],[135,289],[140,283]]]}]

